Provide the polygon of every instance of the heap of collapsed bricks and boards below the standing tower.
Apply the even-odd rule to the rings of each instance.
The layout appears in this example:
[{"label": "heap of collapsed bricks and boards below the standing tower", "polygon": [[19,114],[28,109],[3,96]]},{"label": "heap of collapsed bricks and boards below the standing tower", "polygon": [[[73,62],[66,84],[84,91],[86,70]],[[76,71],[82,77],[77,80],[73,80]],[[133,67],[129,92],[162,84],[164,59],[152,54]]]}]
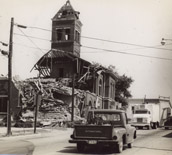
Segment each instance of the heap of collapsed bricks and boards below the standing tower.
[{"label": "heap of collapsed bricks and boards below the standing tower", "polygon": [[[33,113],[35,110],[35,95],[38,93],[37,89],[41,91],[41,102],[38,106],[38,120],[43,124],[53,124],[54,122],[66,122],[71,120],[71,102],[59,99],[60,95],[71,98],[72,88],[63,85],[63,83],[49,79],[27,79],[25,81],[15,81],[16,87],[20,90],[21,100],[21,118],[27,116],[27,113]],[[37,87],[37,88],[36,88]],[[77,100],[84,96],[84,92],[75,89],[74,95]],[[75,104],[75,108],[77,108]],[[80,113],[75,113],[75,120],[81,120]],[[77,116],[78,115],[78,116]],[[30,116],[30,115],[29,115]]]}]

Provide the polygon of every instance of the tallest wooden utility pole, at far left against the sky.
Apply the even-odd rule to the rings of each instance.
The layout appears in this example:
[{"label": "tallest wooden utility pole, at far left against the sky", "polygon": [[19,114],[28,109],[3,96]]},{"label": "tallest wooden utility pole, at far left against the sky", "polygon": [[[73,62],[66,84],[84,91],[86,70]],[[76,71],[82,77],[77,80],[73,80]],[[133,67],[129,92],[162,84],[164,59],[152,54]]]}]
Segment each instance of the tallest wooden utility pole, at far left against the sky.
[{"label": "tallest wooden utility pole, at far left against the sky", "polygon": [[13,54],[14,18],[11,18],[9,54],[8,54],[8,105],[7,105],[7,135],[11,135],[11,99],[12,99],[12,54]]}]

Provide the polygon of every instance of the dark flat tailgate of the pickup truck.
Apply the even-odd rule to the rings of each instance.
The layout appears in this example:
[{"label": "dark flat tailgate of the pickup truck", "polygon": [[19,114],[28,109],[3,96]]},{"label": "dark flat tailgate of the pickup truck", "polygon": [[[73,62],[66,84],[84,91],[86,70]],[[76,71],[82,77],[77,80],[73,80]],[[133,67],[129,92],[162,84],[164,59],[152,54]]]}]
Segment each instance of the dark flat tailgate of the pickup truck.
[{"label": "dark flat tailgate of the pickup truck", "polygon": [[112,126],[75,126],[76,138],[111,139]]}]

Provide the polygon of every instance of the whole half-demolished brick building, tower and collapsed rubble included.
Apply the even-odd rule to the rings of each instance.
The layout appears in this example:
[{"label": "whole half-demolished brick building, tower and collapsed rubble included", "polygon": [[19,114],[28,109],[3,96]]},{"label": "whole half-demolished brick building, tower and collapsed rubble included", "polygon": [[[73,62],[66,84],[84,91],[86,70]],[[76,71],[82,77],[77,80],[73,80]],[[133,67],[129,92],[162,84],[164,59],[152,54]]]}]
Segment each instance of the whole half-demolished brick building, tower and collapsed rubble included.
[{"label": "whole half-demolished brick building, tower and collapsed rubble included", "polygon": [[[115,102],[118,76],[102,65],[80,58],[81,27],[79,12],[67,0],[52,18],[51,49],[33,67],[39,76],[16,82],[25,116],[28,110],[33,112],[35,107],[33,81],[39,82],[42,88],[39,105],[41,119],[66,119],[67,116],[69,120],[72,97],[75,116],[79,117],[85,117],[90,108],[119,107],[119,103]],[[72,87],[75,88],[74,94]]]}]

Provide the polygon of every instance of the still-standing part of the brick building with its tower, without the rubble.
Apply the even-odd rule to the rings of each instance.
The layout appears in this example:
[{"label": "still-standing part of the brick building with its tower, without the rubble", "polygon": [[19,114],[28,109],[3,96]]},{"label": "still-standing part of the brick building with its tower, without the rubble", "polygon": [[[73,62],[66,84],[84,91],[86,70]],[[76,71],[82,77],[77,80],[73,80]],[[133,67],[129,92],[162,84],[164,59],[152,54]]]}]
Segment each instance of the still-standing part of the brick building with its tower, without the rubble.
[{"label": "still-standing part of the brick building with its tower, without the rubble", "polygon": [[[95,66],[80,57],[81,28],[79,12],[69,0],[52,18],[51,50],[34,65],[40,78],[55,78],[75,88],[88,90],[100,100],[100,108],[115,108],[117,76],[109,69]],[[96,98],[94,100],[95,104]]]}]

